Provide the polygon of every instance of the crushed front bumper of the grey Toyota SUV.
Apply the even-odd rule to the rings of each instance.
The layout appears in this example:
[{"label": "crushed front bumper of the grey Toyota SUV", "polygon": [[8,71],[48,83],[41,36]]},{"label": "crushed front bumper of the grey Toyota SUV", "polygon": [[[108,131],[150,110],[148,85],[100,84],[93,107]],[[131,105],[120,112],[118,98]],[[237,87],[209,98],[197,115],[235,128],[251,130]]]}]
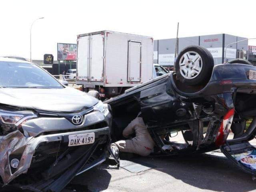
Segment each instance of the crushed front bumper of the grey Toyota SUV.
[{"label": "crushed front bumper of the grey Toyota SUV", "polygon": [[[92,132],[95,134],[95,142],[93,144],[68,147],[69,135]],[[23,189],[32,191],[60,192],[74,176],[92,168],[109,156],[110,128],[107,126],[94,130],[41,135],[38,137],[25,137],[24,134],[17,130],[0,137],[0,143],[0,176],[5,185],[19,185]],[[56,156],[56,160],[50,167],[46,166],[44,168],[42,176],[36,182],[23,183],[22,179],[29,180],[26,176],[30,175],[28,172],[31,172],[33,165],[36,164],[33,164],[33,162],[36,162],[36,158],[40,158],[38,157],[40,148],[46,147],[49,149],[54,144],[59,145],[57,152],[52,152],[53,156]],[[20,159],[19,166],[16,169],[10,166],[10,161],[13,158]],[[41,161],[41,168],[45,166],[42,162],[47,163],[47,159]],[[34,167],[34,170],[38,169],[38,166]],[[32,172],[34,173],[35,171]],[[40,174],[40,172],[37,174]]]}]

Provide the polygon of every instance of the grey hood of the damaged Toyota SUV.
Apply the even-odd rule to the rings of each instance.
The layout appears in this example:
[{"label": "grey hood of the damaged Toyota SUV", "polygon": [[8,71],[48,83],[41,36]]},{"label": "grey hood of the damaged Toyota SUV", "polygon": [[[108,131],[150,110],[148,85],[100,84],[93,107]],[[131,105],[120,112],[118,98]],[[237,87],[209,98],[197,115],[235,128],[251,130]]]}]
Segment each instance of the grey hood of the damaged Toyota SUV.
[{"label": "grey hood of the damaged Toyota SUV", "polygon": [[98,100],[74,88],[0,88],[0,104],[54,112],[77,112]]}]

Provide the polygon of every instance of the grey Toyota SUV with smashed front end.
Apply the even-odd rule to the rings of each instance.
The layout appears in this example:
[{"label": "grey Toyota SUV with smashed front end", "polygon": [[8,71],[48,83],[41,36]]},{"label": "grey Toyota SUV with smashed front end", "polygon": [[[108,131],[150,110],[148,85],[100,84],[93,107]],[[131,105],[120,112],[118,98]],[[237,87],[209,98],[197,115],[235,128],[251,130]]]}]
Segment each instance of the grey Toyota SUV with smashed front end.
[{"label": "grey Toyota SUV with smashed front end", "polygon": [[0,69],[0,191],[60,192],[108,158],[108,105],[33,63],[0,58]]}]

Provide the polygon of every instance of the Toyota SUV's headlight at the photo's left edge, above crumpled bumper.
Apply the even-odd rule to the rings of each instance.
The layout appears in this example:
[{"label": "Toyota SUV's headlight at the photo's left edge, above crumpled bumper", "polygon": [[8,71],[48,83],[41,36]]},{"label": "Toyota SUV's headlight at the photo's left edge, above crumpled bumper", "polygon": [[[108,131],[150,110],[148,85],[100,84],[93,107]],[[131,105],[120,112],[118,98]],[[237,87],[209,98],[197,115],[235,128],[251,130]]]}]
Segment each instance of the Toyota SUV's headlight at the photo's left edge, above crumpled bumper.
[{"label": "Toyota SUV's headlight at the photo's left edge, above crumpled bumper", "polygon": [[37,116],[30,111],[13,112],[0,110],[0,135],[18,130],[21,128],[22,123],[32,118],[37,118]]}]

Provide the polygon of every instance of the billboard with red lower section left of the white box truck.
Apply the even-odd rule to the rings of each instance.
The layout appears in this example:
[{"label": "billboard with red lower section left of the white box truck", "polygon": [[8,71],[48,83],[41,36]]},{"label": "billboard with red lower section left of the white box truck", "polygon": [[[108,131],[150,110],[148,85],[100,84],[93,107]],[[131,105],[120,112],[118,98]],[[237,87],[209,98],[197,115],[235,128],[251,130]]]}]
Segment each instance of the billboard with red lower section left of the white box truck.
[{"label": "billboard with red lower section left of the white box truck", "polygon": [[76,44],[58,43],[58,60],[76,60]]}]

